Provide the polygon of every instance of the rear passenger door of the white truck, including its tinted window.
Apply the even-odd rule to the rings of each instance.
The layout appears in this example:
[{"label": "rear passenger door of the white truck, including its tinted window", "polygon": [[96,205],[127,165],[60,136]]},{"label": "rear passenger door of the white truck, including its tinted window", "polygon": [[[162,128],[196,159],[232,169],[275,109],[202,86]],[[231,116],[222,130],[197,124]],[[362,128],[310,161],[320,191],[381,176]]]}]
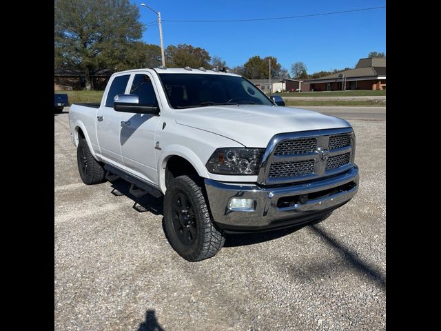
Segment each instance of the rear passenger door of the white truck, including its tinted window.
[{"label": "rear passenger door of the white truck, including its tinted window", "polygon": [[96,118],[96,137],[103,159],[110,164],[123,168],[121,157],[121,143],[119,133],[121,129],[121,112],[113,108],[116,94],[125,94],[130,74],[116,76],[107,87],[105,103],[99,108]]}]

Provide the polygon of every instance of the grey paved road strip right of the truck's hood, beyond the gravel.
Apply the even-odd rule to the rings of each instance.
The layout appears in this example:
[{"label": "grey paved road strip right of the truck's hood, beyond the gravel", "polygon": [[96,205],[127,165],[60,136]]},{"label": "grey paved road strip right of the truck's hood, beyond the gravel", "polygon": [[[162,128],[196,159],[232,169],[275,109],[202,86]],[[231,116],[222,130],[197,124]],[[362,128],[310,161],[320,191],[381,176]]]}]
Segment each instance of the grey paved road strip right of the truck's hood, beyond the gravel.
[{"label": "grey paved road strip right of the truck's hood, beyond the gravel", "polygon": [[315,110],[342,119],[386,120],[386,107],[297,106],[291,108]]}]

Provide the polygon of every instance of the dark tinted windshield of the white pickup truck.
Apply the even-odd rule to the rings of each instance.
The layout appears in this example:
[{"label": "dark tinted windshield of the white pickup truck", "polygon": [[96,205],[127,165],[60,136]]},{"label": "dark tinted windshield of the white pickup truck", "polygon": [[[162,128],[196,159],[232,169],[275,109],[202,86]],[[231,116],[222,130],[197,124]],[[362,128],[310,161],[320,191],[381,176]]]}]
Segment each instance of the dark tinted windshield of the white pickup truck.
[{"label": "dark tinted windshield of the white pickup truck", "polygon": [[173,108],[273,103],[252,83],[223,74],[159,74]]}]

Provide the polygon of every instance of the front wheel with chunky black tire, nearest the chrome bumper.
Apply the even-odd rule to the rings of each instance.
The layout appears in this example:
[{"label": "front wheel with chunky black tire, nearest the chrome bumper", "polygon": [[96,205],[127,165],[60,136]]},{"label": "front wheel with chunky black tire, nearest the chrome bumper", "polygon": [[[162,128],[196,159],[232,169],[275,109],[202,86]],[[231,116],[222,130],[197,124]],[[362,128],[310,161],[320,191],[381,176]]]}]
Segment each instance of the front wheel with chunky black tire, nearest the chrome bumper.
[{"label": "front wheel with chunky black tire, nearest the chrome bumper", "polygon": [[164,197],[164,225],[172,248],[187,261],[214,257],[225,236],[210,217],[202,189],[188,176],[170,181]]}]

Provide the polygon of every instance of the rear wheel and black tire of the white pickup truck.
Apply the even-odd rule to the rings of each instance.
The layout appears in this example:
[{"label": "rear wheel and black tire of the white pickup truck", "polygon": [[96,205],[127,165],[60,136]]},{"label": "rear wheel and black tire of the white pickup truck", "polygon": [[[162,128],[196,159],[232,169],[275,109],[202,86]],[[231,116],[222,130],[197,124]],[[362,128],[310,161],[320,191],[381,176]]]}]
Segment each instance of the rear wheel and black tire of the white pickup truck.
[{"label": "rear wheel and black tire of the white pickup truck", "polygon": [[76,148],[76,160],[81,180],[87,185],[103,183],[105,181],[105,170],[90,152],[88,142],[80,139]]}]

